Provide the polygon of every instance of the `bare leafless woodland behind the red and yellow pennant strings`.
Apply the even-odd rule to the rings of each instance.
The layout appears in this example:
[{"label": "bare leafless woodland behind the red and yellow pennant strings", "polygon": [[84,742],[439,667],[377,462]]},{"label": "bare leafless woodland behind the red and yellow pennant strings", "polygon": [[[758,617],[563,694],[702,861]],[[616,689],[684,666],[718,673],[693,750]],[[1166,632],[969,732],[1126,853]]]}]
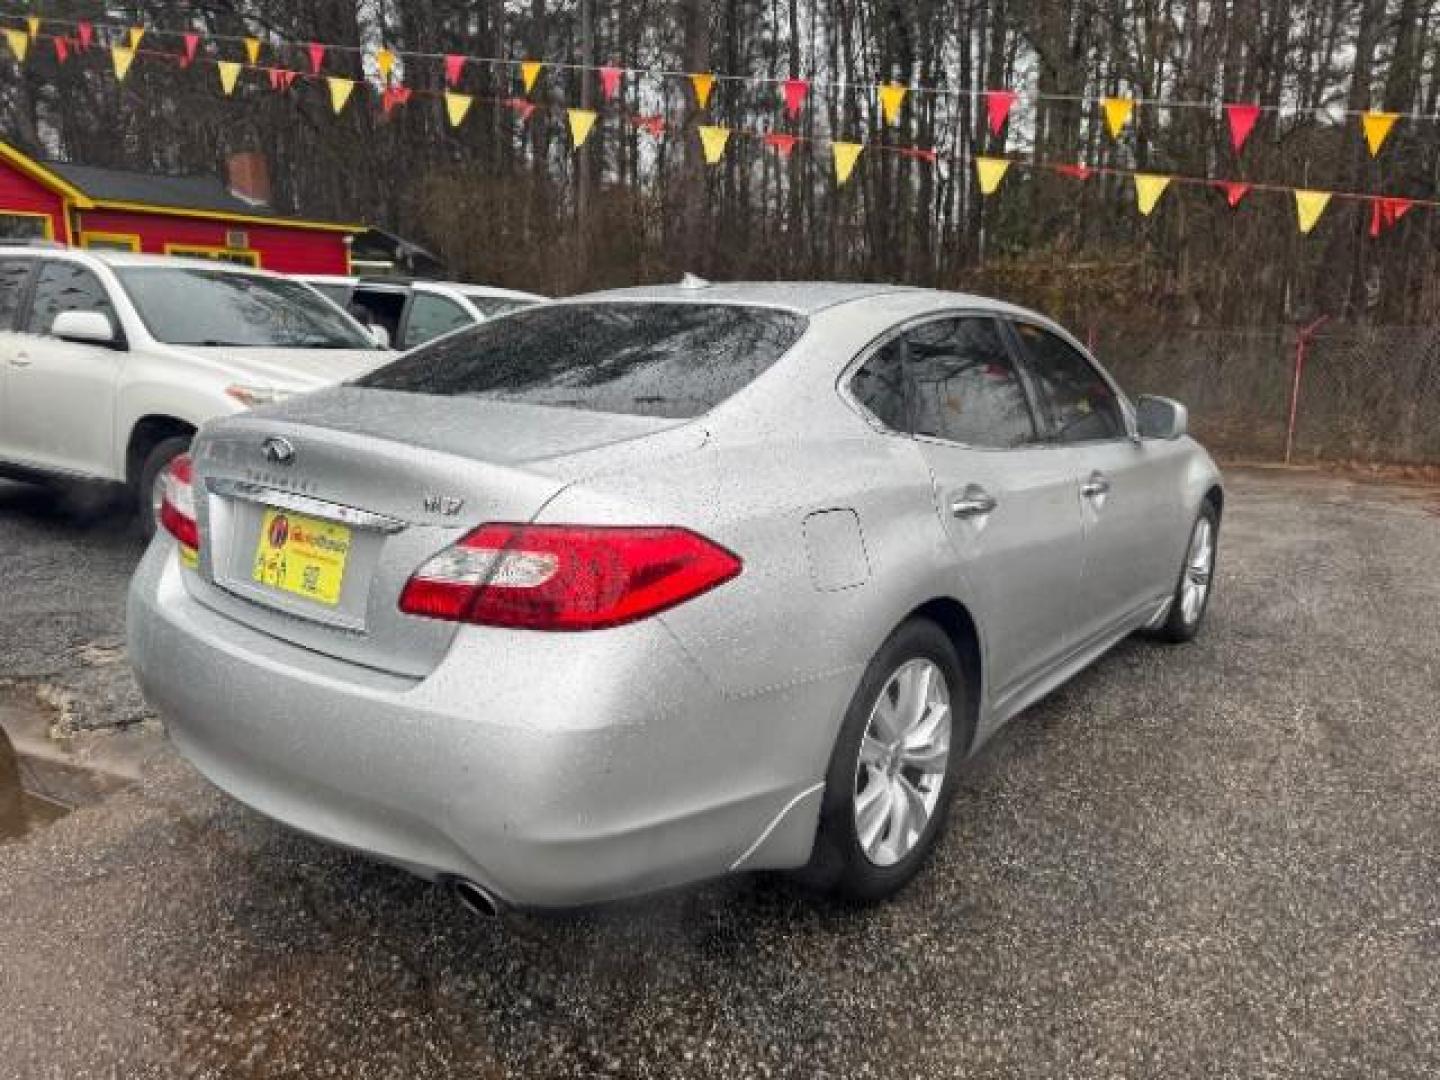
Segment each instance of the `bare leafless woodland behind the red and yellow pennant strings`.
[{"label": "bare leafless woodland behind the red and yellow pennant strings", "polygon": [[[528,122],[482,98],[520,94],[518,68],[472,65],[477,105],[451,130],[433,98],[383,117],[374,85],[331,115],[324,85],[274,92],[246,73],[233,98],[213,66],[141,56],[121,85],[104,52],[60,65],[36,48],[0,62],[3,135],[76,161],[216,173],[264,150],[278,202],[366,220],[448,261],[458,276],[570,292],[677,278],[867,278],[963,287],[1031,302],[1077,331],[1126,320],[1179,325],[1420,324],[1440,307],[1437,212],[1416,209],[1372,239],[1368,207],[1335,200],[1300,236],[1289,196],[1223,196],[1172,186],[1152,217],[1129,180],[1087,181],[1012,168],[982,200],[972,157],[1116,164],[1331,190],[1433,197],[1440,124],[1403,120],[1381,156],[1341,109],[1433,115],[1440,104],[1436,0],[253,0],[252,3],[0,4],[9,16],[94,19],[256,35],[264,62],[308,71],[301,45],[461,52],[677,71],[900,81],[962,94],[912,94],[886,127],[871,92],[815,86],[793,124],[779,88],[717,82],[701,120],[683,79],[628,78],[632,112],[668,121],[654,140],[608,114],[593,72],[547,68]],[[17,19],[7,20],[19,24]],[[151,35],[145,49],[179,52]],[[210,56],[243,59],[238,40]],[[363,73],[331,55],[334,73]],[[372,66],[373,71],[373,66]],[[403,60],[416,89],[444,88],[435,60]],[[988,134],[994,88],[1054,95],[1256,101],[1266,112],[1241,154],[1218,109],[1138,105],[1112,140],[1093,102],[1024,99]],[[366,92],[361,94],[360,91]],[[563,111],[602,118],[570,147]],[[719,166],[696,122],[760,132],[933,147],[933,164],[874,145],[837,187],[828,148],[789,161],[732,138]]]}]

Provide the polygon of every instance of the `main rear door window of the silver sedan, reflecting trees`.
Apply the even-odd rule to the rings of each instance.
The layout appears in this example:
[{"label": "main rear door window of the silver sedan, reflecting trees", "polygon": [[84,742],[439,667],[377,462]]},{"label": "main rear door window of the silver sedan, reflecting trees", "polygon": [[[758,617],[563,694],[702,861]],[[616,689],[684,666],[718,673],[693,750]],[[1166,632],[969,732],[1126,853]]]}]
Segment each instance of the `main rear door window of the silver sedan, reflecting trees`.
[{"label": "main rear door window of the silver sedan, reflecting trees", "polygon": [[945,318],[906,336],[916,435],[1008,449],[1035,441],[1025,387],[992,318]]}]

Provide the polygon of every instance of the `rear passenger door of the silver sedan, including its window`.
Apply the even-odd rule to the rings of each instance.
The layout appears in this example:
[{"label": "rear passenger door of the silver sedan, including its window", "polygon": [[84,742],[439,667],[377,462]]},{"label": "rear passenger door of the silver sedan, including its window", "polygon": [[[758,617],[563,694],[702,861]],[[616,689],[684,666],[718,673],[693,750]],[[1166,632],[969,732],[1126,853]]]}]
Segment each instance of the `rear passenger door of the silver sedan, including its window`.
[{"label": "rear passenger door of the silver sedan, including its window", "polygon": [[[903,416],[878,370],[897,360]],[[881,422],[904,425],[930,468],[955,590],[984,628],[991,701],[1004,707],[1070,647],[1083,559],[1074,472],[1041,442],[1028,387],[988,315],[910,327],[852,387]]]}]

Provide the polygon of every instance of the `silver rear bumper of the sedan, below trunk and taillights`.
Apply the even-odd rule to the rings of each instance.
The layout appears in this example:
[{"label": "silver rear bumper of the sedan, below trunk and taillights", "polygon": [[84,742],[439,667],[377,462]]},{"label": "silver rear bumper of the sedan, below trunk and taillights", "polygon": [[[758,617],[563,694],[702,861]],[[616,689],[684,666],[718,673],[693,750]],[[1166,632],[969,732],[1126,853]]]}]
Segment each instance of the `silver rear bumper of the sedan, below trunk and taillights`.
[{"label": "silver rear bumper of the sedan, below trunk and taillights", "polygon": [[415,681],[239,625],[183,573],[161,537],[131,585],[141,688],[202,773],[302,832],[543,907],[809,857],[848,678],[727,697],[648,619],[465,628]]}]

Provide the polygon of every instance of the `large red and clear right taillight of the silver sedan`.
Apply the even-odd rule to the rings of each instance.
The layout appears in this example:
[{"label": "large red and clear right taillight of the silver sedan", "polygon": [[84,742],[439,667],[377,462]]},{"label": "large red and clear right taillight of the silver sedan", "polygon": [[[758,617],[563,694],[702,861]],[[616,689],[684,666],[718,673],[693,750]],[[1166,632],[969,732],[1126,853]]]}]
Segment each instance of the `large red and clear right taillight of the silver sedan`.
[{"label": "large red and clear right taillight of the silver sedan", "polygon": [[400,611],[482,626],[600,629],[739,573],[736,556],[688,528],[488,524],[416,570]]}]

